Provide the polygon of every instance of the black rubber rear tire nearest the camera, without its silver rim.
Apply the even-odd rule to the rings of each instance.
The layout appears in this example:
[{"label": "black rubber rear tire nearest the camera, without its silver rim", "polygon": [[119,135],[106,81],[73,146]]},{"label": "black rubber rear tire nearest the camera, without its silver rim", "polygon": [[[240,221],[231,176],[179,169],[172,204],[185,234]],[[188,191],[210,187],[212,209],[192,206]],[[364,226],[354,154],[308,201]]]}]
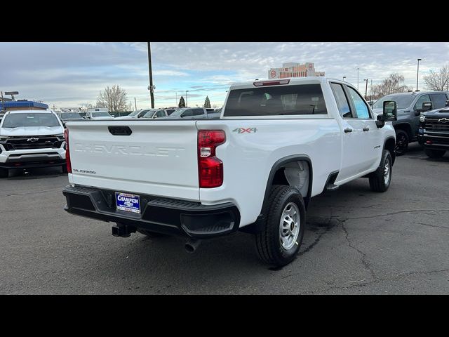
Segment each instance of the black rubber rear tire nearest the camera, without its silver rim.
[{"label": "black rubber rear tire nearest the camera, without its silver rim", "polygon": [[[290,203],[295,204],[299,210],[299,232],[295,240],[292,237],[291,242],[295,242],[295,244],[291,248],[285,249],[281,244],[281,216]],[[268,205],[263,228],[255,234],[256,251],[264,263],[281,267],[295,260],[297,253],[300,251],[306,223],[306,208],[300,191],[296,187],[285,185],[274,185],[272,187]],[[291,207],[290,204],[290,209]]]}]

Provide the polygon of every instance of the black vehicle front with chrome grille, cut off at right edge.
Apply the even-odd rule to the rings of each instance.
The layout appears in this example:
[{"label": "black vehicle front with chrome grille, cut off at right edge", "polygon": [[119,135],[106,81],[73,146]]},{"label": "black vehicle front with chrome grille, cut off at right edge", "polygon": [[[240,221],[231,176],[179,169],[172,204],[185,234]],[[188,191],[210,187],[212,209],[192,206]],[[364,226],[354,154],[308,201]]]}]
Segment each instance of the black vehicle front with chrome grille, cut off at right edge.
[{"label": "black vehicle front with chrome grille, cut off at right edge", "polygon": [[449,101],[443,109],[431,110],[420,116],[418,143],[431,158],[443,157],[449,150]]}]

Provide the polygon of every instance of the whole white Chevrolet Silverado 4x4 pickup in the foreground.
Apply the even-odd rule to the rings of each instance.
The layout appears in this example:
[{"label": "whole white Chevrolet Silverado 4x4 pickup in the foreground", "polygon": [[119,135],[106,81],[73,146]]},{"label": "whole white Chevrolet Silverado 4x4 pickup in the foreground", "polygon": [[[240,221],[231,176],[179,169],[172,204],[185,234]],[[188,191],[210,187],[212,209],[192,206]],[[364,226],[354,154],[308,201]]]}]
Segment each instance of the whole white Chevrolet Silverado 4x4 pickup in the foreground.
[{"label": "whole white Chevrolet Silverado 4x4 pickup in the foreground", "polygon": [[220,119],[67,123],[65,210],[141,232],[201,239],[255,234],[270,265],[300,249],[311,197],[356,178],[384,192],[396,102],[374,119],[347,82],[324,77],[234,84]]}]

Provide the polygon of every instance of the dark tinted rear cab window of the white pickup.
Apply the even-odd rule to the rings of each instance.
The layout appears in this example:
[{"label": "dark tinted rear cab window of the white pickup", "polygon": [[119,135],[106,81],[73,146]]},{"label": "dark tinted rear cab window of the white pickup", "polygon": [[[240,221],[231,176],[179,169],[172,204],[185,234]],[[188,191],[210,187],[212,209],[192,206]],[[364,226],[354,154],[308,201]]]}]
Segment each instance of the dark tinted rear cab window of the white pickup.
[{"label": "dark tinted rear cab window of the white pickup", "polygon": [[321,84],[291,84],[234,89],[224,117],[328,114]]}]

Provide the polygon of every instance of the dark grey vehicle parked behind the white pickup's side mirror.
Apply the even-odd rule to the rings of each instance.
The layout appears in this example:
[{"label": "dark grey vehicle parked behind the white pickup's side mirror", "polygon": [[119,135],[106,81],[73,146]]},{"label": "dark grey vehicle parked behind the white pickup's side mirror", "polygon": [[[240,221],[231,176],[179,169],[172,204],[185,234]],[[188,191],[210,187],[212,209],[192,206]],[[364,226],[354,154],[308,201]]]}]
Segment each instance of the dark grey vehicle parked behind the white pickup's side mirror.
[{"label": "dark grey vehicle parked behind the white pickup's side mirror", "polygon": [[[385,100],[395,100],[398,105],[398,120],[393,122],[396,131],[396,155],[404,154],[408,149],[408,143],[417,140],[420,127],[420,114],[426,109],[441,109],[445,107],[448,93],[443,91],[394,93],[377,100],[373,105],[376,114],[382,114]],[[431,107],[423,109],[423,103],[431,102]]]}]

